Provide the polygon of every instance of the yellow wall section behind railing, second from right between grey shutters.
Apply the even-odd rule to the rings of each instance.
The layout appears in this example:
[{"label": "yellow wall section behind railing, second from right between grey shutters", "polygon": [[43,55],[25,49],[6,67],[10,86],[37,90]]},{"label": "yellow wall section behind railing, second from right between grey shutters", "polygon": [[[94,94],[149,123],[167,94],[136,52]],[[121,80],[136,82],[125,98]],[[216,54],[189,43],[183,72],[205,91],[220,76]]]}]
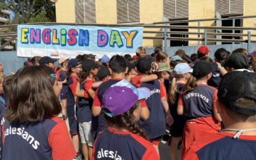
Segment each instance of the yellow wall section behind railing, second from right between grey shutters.
[{"label": "yellow wall section behind railing, second from right between grey shutters", "polygon": [[[189,20],[192,19],[214,19],[215,18],[215,0],[189,0]],[[189,26],[198,26],[197,22],[189,22]],[[200,22],[200,26],[215,26],[214,21]],[[198,29],[189,29],[189,32],[198,32]],[[204,33],[204,29],[200,30]],[[208,32],[214,32],[209,30]],[[198,38],[198,35],[189,35],[189,38]],[[204,35],[200,35],[204,38]],[[214,38],[214,36],[208,36]],[[202,42],[204,43],[204,42]],[[201,44],[202,44],[201,43]],[[211,44],[211,42],[209,43]],[[189,41],[189,45],[198,45],[197,41]]]}]

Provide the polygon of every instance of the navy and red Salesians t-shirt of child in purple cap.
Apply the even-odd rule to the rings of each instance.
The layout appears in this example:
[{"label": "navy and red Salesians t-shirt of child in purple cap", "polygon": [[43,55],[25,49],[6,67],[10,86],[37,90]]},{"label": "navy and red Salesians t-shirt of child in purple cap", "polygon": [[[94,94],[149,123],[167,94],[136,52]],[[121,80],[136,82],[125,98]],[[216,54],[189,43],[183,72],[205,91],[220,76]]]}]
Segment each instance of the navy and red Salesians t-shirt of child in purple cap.
[{"label": "navy and red Salesians t-shirt of child in purple cap", "polygon": [[99,133],[93,146],[93,159],[148,159],[157,160],[153,145],[129,131],[116,131],[111,127]]}]

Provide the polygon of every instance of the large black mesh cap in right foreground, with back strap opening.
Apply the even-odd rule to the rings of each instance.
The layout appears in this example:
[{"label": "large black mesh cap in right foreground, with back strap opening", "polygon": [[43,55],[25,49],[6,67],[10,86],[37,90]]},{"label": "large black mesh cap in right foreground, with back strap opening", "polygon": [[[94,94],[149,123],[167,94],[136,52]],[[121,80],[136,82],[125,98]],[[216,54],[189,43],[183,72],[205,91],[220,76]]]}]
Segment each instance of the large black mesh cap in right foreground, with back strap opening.
[{"label": "large black mesh cap in right foreground, with back strap opening", "polygon": [[235,105],[241,99],[252,99],[256,102],[256,73],[248,71],[232,71],[222,77],[218,88],[218,100],[225,107],[242,115],[256,115],[256,105],[248,108]]}]

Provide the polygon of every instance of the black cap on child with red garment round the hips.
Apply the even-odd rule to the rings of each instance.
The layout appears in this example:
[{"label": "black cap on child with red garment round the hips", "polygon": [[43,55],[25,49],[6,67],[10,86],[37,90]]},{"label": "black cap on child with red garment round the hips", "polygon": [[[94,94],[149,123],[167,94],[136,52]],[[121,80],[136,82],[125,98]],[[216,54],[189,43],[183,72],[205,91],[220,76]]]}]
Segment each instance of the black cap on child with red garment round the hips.
[{"label": "black cap on child with red garment round the hips", "polygon": [[197,79],[207,76],[207,74],[211,73],[212,71],[216,70],[218,65],[214,62],[208,61],[196,61],[195,65],[193,66],[193,76]]}]

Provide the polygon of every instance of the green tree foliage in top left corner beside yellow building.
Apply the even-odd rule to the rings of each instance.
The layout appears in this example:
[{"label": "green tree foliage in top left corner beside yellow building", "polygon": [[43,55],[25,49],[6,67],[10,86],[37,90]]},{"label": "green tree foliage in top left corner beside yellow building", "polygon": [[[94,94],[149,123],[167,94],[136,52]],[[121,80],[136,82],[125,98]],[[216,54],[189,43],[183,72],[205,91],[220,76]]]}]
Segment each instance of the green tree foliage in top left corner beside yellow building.
[{"label": "green tree foliage in top left corner beside yellow building", "polygon": [[56,21],[54,3],[49,0],[0,0],[0,3],[4,3],[4,8],[13,12],[13,24],[28,23],[31,18],[35,19],[42,14],[42,11],[48,22]]}]

